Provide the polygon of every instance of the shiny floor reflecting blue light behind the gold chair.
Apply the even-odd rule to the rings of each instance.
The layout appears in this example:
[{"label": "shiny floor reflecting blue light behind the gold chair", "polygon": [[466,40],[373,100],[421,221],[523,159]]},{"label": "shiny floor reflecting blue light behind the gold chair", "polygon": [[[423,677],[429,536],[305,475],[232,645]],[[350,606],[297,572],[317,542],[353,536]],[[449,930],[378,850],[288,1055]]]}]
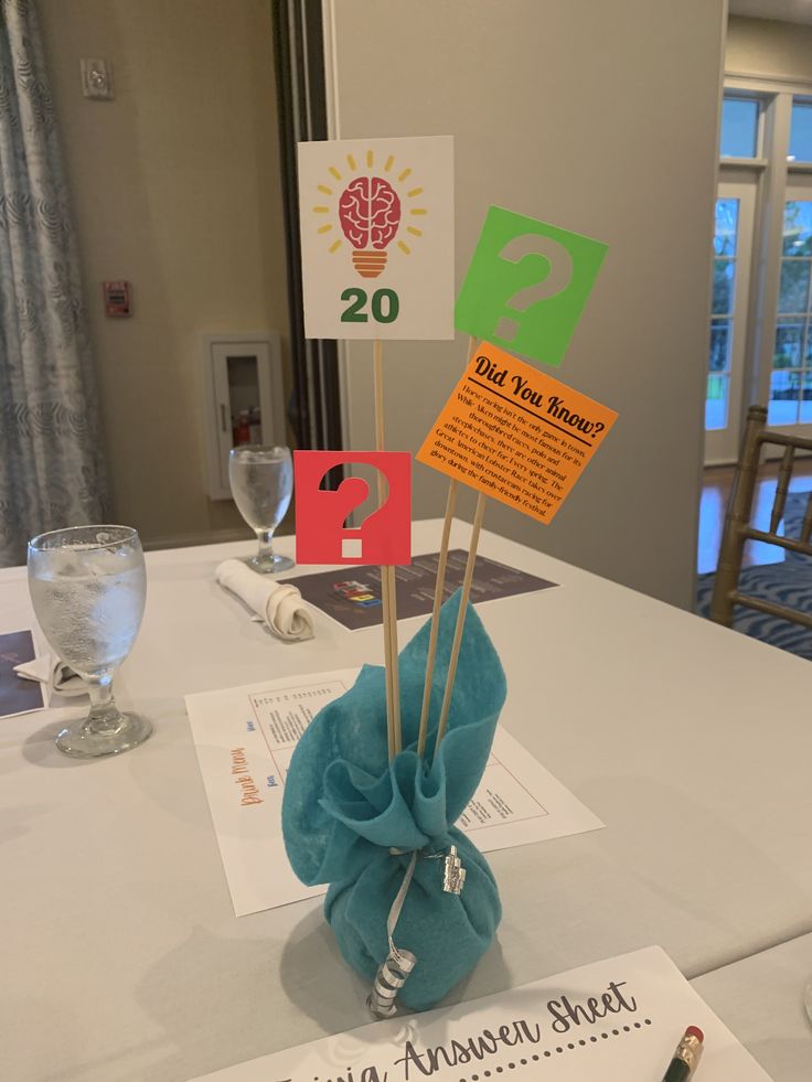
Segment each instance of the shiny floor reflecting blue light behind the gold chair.
[{"label": "shiny floor reflecting blue light behind the gold chair", "polygon": [[[761,468],[756,488],[755,521],[766,528],[776,495],[778,463],[769,462]],[[699,575],[716,570],[716,561],[725,525],[725,510],[733,485],[733,467],[713,467],[705,470],[705,479],[699,502],[699,542],[697,546],[696,570]],[[800,461],[790,483],[792,492],[812,491],[812,459]],[[755,564],[778,564],[783,559],[783,550],[761,542],[748,542],[745,548],[744,567]]]}]

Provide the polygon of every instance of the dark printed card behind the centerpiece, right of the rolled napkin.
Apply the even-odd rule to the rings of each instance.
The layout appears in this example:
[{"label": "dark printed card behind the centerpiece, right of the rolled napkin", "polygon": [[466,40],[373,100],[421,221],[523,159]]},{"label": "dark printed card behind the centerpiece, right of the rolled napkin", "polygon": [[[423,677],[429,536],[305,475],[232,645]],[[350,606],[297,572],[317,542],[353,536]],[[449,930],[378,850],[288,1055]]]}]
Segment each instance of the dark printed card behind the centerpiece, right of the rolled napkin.
[{"label": "dark printed card behind the centerpiece, right of the rolled napkin", "polygon": [[[413,556],[409,565],[395,568],[398,620],[425,617],[431,612],[439,556],[439,553]],[[448,554],[444,600],[462,586],[467,559],[468,553],[461,548],[451,549]],[[306,601],[327,612],[350,631],[383,623],[380,567],[345,567],[343,570],[302,575],[287,581],[301,590]],[[471,583],[471,601],[493,601],[517,593],[546,590],[551,586],[557,583],[478,556]]]}]

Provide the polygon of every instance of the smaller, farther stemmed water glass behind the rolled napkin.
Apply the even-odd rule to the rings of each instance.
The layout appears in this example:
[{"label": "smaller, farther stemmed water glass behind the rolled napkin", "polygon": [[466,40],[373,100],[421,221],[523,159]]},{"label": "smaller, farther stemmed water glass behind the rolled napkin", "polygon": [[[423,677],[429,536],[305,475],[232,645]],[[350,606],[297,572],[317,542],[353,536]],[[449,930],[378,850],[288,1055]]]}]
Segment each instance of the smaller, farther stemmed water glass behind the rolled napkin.
[{"label": "smaller, farther stemmed water glass behind the rolled napkin", "polygon": [[259,542],[259,550],[246,564],[261,575],[275,575],[293,566],[274,551],[274,531],[285,517],[293,492],[293,463],[288,447],[242,443],[228,456],[228,480],[237,511]]}]

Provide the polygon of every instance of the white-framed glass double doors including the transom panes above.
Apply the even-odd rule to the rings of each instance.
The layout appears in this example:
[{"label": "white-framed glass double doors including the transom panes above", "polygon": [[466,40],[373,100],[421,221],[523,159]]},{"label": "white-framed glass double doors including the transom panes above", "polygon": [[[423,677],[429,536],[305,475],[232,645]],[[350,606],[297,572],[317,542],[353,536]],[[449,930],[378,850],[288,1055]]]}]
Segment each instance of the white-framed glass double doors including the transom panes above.
[{"label": "white-framed glass double doors including the transom panes above", "polygon": [[812,426],[812,87],[731,79],[719,157],[708,462],[736,459],[751,403],[772,427]]}]

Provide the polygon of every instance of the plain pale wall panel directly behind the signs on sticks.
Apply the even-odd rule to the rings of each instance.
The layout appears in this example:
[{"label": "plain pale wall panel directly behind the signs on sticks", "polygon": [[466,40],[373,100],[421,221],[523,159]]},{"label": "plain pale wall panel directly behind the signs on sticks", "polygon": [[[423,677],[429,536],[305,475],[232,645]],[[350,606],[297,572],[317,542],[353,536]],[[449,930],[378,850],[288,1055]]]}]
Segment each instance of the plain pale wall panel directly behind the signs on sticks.
[{"label": "plain pale wall panel directly behind the signs on sticks", "polygon": [[[334,133],[456,137],[458,285],[490,203],[610,246],[559,371],[620,419],[551,526],[494,502],[485,526],[690,607],[724,0],[327,8]],[[466,342],[386,344],[391,450],[419,447]],[[350,444],[368,449],[371,350],[346,353]],[[415,464],[415,517],[446,488]]]}]

